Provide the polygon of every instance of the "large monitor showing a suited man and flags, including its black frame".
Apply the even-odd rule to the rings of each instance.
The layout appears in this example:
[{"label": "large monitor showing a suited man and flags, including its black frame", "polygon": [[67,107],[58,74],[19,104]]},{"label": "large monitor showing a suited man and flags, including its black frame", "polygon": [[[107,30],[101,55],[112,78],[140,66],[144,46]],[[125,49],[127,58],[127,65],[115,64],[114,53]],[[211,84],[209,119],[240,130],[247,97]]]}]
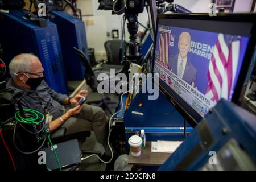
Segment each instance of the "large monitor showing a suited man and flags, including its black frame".
[{"label": "large monitor showing a suited man and flags, including its black frame", "polygon": [[233,101],[244,81],[254,24],[238,16],[158,15],[152,72],[194,126],[221,98]]}]

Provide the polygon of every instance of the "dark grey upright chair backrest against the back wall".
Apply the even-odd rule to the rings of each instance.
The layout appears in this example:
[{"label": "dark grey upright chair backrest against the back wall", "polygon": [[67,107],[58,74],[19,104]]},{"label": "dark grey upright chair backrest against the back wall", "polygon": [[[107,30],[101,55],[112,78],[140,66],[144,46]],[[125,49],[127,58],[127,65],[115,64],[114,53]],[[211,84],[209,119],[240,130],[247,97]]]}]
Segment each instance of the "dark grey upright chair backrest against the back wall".
[{"label": "dark grey upright chair backrest against the back wall", "polygon": [[121,60],[119,57],[119,50],[120,50],[121,40],[114,39],[114,40],[107,40],[104,43],[106,56],[108,58],[108,64],[121,64]]}]

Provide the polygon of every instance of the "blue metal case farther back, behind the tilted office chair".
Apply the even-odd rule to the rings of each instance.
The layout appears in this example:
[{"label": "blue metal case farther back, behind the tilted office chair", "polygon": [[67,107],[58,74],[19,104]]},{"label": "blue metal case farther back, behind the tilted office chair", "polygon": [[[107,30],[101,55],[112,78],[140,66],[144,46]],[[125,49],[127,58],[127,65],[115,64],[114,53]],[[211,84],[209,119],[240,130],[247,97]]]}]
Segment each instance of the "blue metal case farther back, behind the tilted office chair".
[{"label": "blue metal case farther back, behind the tilted office chair", "polygon": [[57,25],[67,80],[83,80],[84,67],[73,47],[80,49],[89,59],[84,22],[65,11],[50,11],[51,22]]}]

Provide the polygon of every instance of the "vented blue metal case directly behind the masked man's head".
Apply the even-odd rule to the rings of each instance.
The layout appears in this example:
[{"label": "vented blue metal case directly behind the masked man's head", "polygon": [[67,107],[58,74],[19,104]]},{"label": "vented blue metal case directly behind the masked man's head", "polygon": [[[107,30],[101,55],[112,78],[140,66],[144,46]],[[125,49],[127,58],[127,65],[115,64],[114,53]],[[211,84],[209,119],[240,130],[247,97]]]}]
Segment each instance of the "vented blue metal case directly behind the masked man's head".
[{"label": "vented blue metal case directly behind the masked man's head", "polygon": [[57,27],[49,21],[46,27],[40,27],[26,18],[28,13],[27,10],[0,13],[3,60],[8,67],[19,53],[33,53],[43,65],[47,84],[56,92],[68,94]]}]

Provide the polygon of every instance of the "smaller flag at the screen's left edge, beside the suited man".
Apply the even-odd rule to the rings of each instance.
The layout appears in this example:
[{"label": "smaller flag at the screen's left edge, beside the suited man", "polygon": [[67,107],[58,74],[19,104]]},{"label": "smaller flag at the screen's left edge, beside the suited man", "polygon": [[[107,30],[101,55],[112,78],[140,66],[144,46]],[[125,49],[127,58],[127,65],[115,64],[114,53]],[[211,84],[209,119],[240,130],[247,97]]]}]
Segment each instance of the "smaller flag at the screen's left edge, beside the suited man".
[{"label": "smaller flag at the screen's left edge, beside the suited man", "polygon": [[169,57],[169,38],[170,33],[168,32],[161,32],[160,38],[159,38],[159,55],[160,55],[160,61],[162,61],[164,64],[168,63],[168,57]]}]

